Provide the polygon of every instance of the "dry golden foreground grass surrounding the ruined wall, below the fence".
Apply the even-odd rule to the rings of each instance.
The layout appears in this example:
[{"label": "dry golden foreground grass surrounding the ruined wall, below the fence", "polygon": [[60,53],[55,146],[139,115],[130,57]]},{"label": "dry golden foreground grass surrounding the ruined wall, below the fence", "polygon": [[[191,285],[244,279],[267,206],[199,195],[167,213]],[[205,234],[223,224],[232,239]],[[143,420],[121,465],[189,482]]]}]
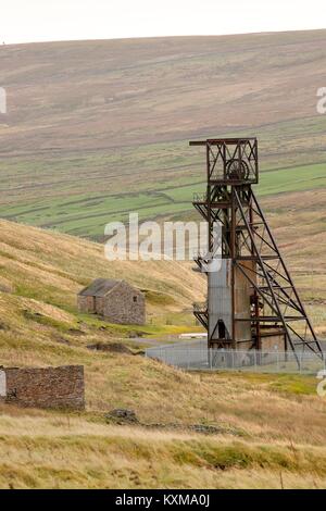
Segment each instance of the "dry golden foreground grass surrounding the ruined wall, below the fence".
[{"label": "dry golden foreground grass surrounding the ruined wall, below the fence", "polygon": [[[24,347],[22,359],[15,350],[2,347],[2,360],[84,363],[87,410],[3,406],[0,487],[326,487],[326,401],[315,395],[313,377],[187,374],[141,357],[72,347],[58,352],[50,345]],[[106,424],[113,408],[185,429]],[[190,434],[189,424],[225,433]]]}]

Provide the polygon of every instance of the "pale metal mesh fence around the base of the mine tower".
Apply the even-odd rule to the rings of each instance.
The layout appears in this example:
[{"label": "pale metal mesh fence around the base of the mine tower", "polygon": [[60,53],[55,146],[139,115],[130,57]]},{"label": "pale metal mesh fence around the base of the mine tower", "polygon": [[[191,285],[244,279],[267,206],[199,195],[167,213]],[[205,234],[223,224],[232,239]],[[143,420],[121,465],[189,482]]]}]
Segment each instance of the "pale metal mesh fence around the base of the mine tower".
[{"label": "pale metal mesh fence around the base of the mine tower", "polygon": [[[146,357],[188,371],[247,371],[260,373],[326,372],[326,351],[261,351],[208,349],[206,340],[164,345],[146,350]],[[326,374],[326,373],[325,373]]]}]

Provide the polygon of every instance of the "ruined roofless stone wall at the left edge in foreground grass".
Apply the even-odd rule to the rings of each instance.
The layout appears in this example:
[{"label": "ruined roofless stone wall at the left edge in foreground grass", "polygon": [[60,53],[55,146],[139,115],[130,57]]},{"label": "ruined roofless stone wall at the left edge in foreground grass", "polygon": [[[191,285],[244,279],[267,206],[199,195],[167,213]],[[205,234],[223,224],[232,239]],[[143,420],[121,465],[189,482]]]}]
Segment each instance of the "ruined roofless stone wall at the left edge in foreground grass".
[{"label": "ruined roofless stone wall at the left edge in foreground grass", "polygon": [[84,366],[1,367],[0,400],[21,407],[84,410]]}]

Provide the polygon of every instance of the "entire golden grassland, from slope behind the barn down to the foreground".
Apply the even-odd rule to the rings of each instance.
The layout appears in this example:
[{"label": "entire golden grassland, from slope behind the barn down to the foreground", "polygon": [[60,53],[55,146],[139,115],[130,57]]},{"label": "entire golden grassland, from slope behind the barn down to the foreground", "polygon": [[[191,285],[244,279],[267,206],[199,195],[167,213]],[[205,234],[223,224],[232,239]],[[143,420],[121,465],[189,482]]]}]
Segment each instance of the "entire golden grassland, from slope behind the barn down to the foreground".
[{"label": "entire golden grassland, from slope behind the barn down to the foreground", "polygon": [[[142,331],[180,332],[165,320],[199,296],[198,274],[155,262],[145,275],[106,262],[96,244],[5,221],[0,233],[0,363],[82,363],[87,400],[83,413],[0,406],[0,487],[326,487],[326,401],[314,376],[186,374],[139,354],[131,325],[76,311],[88,279],[118,275],[152,291]],[[113,408],[135,410],[142,425],[106,423]]]}]

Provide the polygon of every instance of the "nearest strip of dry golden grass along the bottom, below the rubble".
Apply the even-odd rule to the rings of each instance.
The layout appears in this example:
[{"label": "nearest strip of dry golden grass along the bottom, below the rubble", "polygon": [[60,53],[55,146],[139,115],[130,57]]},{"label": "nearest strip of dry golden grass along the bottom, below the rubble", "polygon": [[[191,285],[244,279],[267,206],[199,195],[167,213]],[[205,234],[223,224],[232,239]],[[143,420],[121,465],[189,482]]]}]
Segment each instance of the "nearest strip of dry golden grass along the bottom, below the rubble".
[{"label": "nearest strip of dry golden grass along the bottom, below the rubble", "polygon": [[149,432],[16,411],[0,417],[2,488],[325,488],[326,449]]}]

